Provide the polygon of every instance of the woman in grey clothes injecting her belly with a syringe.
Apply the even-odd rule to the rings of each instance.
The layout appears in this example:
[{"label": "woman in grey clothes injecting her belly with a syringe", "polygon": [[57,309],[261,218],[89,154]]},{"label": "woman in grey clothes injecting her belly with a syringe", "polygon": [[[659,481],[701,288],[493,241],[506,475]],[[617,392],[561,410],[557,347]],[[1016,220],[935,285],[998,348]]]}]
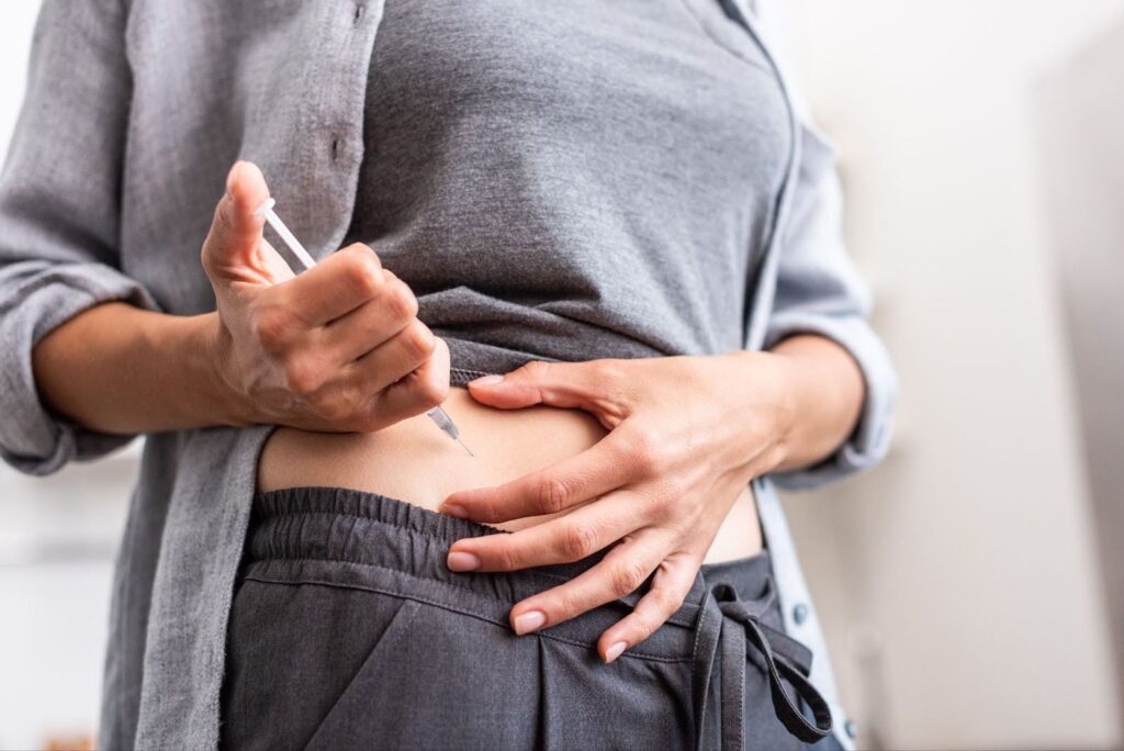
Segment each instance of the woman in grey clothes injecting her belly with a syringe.
[{"label": "woman in grey clothes injecting her belly with a syringe", "polygon": [[0,447],[149,434],[102,745],[827,734],[771,481],[877,461],[895,383],[749,10],[45,2]]}]

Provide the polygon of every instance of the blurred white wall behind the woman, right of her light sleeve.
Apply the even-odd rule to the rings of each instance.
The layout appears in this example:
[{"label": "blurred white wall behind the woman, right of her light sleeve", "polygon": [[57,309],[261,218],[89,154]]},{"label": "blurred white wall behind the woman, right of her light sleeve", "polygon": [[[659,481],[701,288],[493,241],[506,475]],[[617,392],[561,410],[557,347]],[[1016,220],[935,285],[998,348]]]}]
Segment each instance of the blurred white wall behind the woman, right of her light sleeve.
[{"label": "blurred white wall behind the woman, right of her light sleeve", "polygon": [[789,507],[865,745],[1121,742],[1032,89],[1118,0],[795,0],[903,379],[873,474]]}]

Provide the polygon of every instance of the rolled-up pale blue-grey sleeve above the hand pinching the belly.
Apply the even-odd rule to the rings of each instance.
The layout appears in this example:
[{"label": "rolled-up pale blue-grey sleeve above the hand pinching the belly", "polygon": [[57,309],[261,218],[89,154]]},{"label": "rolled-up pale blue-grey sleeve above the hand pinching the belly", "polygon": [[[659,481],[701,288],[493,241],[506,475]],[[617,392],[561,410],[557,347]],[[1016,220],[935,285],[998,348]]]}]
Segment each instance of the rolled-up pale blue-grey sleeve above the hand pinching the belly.
[{"label": "rolled-up pale blue-grey sleeve above the hand pinching the belly", "polygon": [[851,353],[865,382],[859,423],[832,455],[817,464],[771,476],[783,488],[812,488],[871,467],[889,449],[897,373],[868,323],[870,292],[846,253],[841,188],[834,151],[806,123],[790,216],[780,238],[777,286],[764,346],[787,336],[826,336]]}]

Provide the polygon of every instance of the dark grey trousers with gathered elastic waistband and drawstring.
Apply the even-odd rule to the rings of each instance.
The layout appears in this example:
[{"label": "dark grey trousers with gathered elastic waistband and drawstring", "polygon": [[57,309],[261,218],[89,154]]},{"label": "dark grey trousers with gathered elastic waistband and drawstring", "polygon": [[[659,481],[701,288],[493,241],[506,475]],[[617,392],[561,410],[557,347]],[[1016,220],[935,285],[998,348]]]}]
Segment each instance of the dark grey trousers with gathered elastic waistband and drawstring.
[{"label": "dark grey trousers with gathered elastic waistband and drawstring", "polygon": [[[814,741],[815,725],[830,725],[804,680],[810,654],[780,631],[765,553],[704,567],[665,625],[604,664],[598,636],[643,588],[516,636],[516,601],[598,558],[448,571],[450,544],[484,534],[504,533],[341,488],[255,498],[230,614],[223,745],[795,749],[804,744],[792,732]],[[828,738],[817,748],[837,747]]]}]

